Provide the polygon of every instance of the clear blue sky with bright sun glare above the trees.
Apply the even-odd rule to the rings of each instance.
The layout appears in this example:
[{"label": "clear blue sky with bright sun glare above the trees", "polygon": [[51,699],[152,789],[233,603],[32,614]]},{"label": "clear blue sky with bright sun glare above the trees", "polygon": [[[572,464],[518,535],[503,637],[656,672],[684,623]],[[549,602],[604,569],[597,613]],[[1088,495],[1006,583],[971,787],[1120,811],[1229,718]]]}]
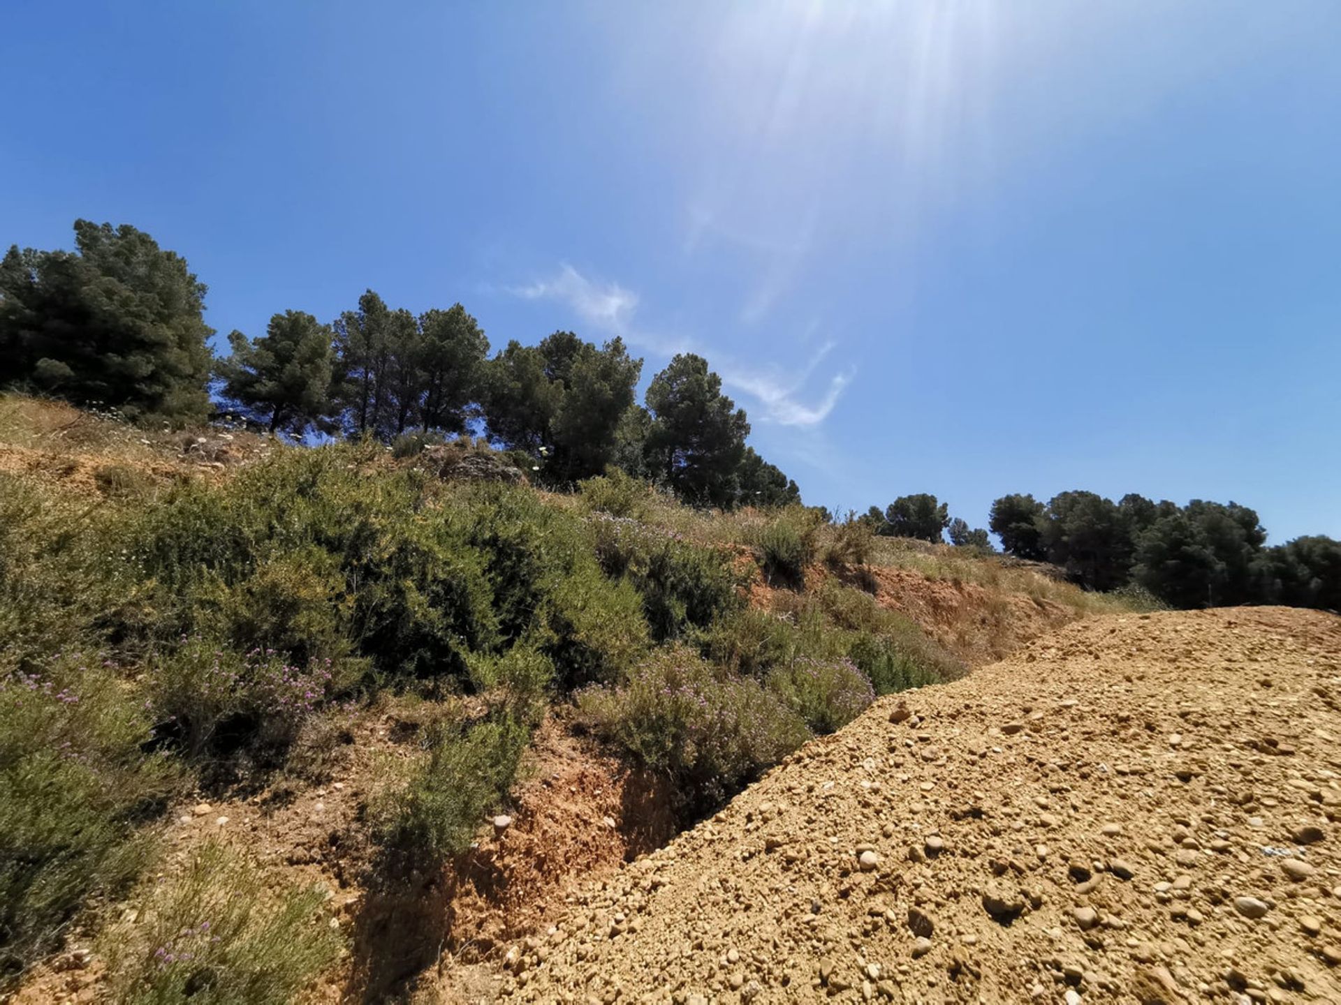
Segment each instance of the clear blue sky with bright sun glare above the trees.
[{"label": "clear blue sky with bright sun glare above the trees", "polygon": [[834,509],[1341,536],[1341,4],[8,0],[0,243],[703,352]]}]

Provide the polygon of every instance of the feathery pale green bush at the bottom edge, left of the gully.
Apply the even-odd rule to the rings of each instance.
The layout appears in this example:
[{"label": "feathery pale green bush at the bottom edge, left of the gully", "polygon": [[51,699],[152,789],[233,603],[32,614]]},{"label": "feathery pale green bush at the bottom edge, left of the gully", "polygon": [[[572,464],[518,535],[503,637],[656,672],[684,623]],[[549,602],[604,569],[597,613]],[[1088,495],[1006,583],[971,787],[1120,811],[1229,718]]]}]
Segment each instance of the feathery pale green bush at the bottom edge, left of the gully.
[{"label": "feathery pale green bush at the bottom edge, left of the gully", "polygon": [[125,1005],[282,1005],[341,947],[318,886],[275,888],[211,842],[152,890],[142,921],[110,933],[111,985]]}]

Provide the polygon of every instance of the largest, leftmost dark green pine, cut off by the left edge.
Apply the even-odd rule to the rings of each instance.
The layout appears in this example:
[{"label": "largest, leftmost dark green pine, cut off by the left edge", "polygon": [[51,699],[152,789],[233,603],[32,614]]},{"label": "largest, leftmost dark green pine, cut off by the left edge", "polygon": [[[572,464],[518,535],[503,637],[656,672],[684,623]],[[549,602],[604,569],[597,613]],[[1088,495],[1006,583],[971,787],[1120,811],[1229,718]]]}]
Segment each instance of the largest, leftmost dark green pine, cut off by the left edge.
[{"label": "largest, leftmost dark green pine, cut off by the left edge", "polygon": [[0,263],[0,379],[135,419],[204,419],[205,284],[130,225],[76,220],[75,247]]}]

